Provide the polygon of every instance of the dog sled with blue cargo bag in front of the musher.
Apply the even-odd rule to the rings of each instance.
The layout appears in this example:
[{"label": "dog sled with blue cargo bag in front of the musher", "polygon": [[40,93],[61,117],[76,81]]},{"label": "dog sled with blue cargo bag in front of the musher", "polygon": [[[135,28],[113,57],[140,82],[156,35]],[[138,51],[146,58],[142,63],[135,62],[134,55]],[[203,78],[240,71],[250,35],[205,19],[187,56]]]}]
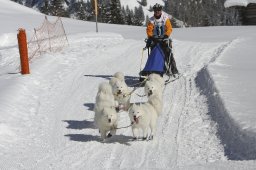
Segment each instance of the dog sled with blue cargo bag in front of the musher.
[{"label": "dog sled with blue cargo bag in front of the musher", "polygon": [[172,53],[172,40],[162,36],[146,39],[146,47],[148,50],[148,58],[143,70],[140,71],[140,81],[144,81],[150,74],[156,73],[160,76],[167,75],[170,78],[177,78],[179,74]]}]

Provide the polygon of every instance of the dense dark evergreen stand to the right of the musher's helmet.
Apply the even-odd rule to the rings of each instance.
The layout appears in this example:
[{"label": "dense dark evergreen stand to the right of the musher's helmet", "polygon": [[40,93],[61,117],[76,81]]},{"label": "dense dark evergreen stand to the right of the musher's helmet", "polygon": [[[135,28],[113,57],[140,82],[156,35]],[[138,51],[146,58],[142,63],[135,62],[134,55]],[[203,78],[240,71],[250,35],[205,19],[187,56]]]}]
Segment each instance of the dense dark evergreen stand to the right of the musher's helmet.
[{"label": "dense dark evergreen stand to the right of the musher's helmet", "polygon": [[189,26],[237,25],[237,11],[224,8],[224,2],[225,0],[167,0],[165,4],[169,6],[166,8],[170,9],[170,14]]}]

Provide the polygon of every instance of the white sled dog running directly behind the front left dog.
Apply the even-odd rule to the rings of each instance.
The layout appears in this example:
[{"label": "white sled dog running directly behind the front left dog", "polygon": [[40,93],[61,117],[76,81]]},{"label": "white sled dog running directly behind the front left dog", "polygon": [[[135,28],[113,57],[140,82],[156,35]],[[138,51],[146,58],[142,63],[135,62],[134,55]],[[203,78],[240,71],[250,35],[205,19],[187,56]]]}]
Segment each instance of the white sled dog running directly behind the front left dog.
[{"label": "white sled dog running directly behind the front left dog", "polygon": [[128,111],[130,107],[131,91],[124,81],[119,79],[116,80],[112,86],[115,100],[118,102],[119,107],[123,110]]}]

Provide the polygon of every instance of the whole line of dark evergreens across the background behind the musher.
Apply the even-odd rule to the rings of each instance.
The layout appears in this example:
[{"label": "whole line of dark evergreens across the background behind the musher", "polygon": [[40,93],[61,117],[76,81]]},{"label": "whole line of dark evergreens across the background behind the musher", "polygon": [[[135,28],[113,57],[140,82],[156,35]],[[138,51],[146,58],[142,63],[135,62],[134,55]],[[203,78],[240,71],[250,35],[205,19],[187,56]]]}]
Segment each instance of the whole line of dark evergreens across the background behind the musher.
[{"label": "whole line of dark evergreens across the background behind the musher", "polygon": [[[94,0],[12,0],[28,7],[38,8],[42,13],[55,16],[94,21]],[[115,24],[143,25],[144,12],[139,5],[147,0],[137,0],[135,9],[129,13],[122,9],[120,0],[97,0],[98,21]],[[225,0],[163,0],[164,11],[188,26],[215,26],[239,24],[237,9],[224,8]],[[81,5],[82,4],[82,5]],[[149,10],[152,10],[149,5]],[[67,7],[65,9],[64,7]],[[145,9],[144,9],[145,10]],[[172,19],[173,21],[174,19]],[[173,23],[173,22],[172,22]],[[174,24],[175,26],[175,24]]]}]

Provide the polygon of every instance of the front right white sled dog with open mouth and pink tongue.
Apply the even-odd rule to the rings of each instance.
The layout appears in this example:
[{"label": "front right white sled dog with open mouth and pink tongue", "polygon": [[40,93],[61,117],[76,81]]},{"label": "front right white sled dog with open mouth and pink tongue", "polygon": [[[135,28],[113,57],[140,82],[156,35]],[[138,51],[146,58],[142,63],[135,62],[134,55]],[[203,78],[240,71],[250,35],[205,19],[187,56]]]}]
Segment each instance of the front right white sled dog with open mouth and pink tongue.
[{"label": "front right white sled dog with open mouth and pink tongue", "polygon": [[[156,132],[157,113],[149,103],[133,104],[129,109],[132,124],[133,138],[138,139],[140,129],[143,131],[143,140],[153,139]],[[149,134],[150,129],[150,134]]]}]

